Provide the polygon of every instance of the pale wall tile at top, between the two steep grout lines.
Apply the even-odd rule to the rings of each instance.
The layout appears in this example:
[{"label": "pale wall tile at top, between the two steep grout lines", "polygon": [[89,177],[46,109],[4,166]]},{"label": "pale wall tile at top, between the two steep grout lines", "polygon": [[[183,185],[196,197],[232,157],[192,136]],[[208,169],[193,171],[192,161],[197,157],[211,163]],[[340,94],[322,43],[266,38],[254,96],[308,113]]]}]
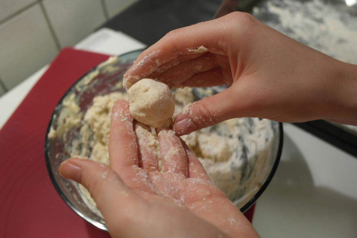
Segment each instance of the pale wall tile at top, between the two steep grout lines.
[{"label": "pale wall tile at top, between the two steep grout lines", "polygon": [[99,0],[43,1],[61,47],[71,46],[105,22]]}]

